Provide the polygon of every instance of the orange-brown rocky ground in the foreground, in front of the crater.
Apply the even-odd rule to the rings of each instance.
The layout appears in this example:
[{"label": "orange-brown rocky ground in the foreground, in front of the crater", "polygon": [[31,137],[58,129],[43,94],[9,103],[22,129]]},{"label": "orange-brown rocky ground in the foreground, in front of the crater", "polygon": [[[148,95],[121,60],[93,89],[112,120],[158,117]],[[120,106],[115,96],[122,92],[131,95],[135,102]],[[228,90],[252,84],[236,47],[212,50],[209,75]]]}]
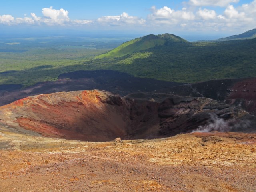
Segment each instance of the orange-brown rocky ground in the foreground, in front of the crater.
[{"label": "orange-brown rocky ground in the foreground, in front of the crater", "polygon": [[256,134],[82,142],[0,126],[1,192],[255,192]]}]

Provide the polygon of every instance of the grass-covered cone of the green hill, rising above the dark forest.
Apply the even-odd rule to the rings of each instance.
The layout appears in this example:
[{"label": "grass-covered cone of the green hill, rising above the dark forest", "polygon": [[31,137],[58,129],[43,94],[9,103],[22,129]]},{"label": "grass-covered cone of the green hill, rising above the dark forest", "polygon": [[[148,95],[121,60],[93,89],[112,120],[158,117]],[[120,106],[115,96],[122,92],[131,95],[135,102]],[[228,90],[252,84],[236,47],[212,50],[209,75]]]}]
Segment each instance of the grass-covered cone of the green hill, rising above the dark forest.
[{"label": "grass-covered cone of the green hill, rising above the dark forest", "polygon": [[117,48],[107,52],[106,54],[102,54],[100,56],[96,56],[99,58],[115,58],[122,57],[134,52],[148,50],[150,48],[154,48],[157,46],[162,46],[164,44],[172,44],[172,43],[180,43],[187,42],[181,37],[175,36],[173,34],[162,34],[162,35],[147,35],[141,38],[136,38],[134,40],[123,43]]}]

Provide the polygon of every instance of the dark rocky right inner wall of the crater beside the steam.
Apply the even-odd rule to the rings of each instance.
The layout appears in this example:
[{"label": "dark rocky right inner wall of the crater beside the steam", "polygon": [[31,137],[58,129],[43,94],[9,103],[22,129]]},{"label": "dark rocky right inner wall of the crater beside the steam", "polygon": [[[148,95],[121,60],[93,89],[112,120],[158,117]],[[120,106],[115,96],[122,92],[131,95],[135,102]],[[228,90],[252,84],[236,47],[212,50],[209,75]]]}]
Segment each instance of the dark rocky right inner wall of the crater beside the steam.
[{"label": "dark rocky right inner wall of the crater beside the steam", "polygon": [[[161,118],[160,134],[166,136],[191,132],[199,127],[204,129],[209,124],[212,124],[212,130],[228,131],[232,130],[234,124],[243,122],[241,115],[244,118],[250,116],[236,106],[209,98],[166,99],[160,104],[158,115]],[[224,124],[214,125],[216,120],[221,120]]]}]

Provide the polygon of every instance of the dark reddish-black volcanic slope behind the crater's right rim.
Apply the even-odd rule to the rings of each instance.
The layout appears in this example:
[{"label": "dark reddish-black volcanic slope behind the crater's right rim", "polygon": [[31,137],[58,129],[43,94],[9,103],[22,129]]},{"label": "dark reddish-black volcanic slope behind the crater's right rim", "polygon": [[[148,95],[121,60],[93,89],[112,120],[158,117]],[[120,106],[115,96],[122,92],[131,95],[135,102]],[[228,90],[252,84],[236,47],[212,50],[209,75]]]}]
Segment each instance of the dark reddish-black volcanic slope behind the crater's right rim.
[{"label": "dark reddish-black volcanic slope behind the crater's right rim", "polygon": [[250,114],[256,115],[256,78],[211,80],[174,86],[156,92],[182,97],[211,98],[240,106]]}]

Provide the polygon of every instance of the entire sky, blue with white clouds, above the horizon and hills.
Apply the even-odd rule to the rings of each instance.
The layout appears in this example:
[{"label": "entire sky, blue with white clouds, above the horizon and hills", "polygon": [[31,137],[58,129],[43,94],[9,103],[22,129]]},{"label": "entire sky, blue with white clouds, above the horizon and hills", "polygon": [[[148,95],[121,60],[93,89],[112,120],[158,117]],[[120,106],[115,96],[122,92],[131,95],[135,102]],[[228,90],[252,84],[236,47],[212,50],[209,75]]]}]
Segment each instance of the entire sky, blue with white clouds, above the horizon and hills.
[{"label": "entire sky, blue with white clouds, above the horizon and hills", "polygon": [[256,28],[256,0],[8,0],[0,28],[238,34]]}]

